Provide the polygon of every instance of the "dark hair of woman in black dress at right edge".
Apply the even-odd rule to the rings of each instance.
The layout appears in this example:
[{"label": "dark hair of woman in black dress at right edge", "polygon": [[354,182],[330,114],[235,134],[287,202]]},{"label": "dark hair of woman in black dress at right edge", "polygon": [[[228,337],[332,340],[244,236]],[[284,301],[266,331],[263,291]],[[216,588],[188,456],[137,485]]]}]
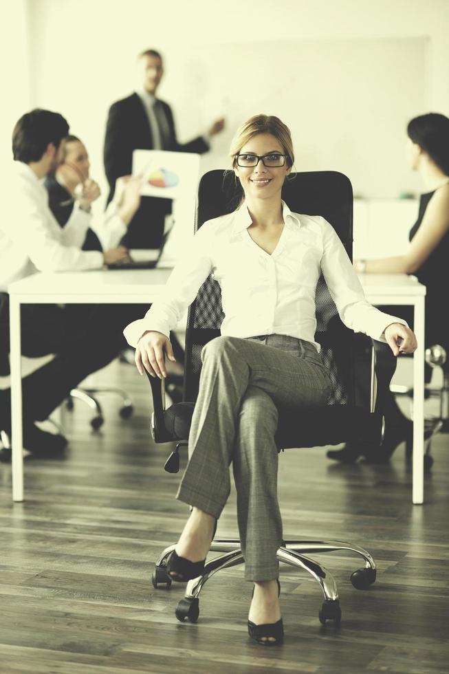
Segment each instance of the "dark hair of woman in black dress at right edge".
[{"label": "dark hair of woman in black dress at right edge", "polygon": [[415,117],[408,122],[407,133],[449,175],[449,118],[437,112]]}]

